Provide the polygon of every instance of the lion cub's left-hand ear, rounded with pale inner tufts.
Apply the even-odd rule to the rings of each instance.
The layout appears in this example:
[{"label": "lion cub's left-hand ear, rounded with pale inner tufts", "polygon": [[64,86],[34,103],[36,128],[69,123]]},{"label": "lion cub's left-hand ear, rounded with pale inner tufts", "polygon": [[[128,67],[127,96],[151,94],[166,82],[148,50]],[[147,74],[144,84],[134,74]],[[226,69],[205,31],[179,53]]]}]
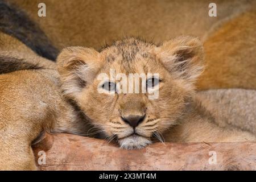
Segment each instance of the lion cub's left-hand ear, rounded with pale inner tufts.
[{"label": "lion cub's left-hand ear, rounded with pale inner tufts", "polygon": [[74,98],[87,84],[93,81],[100,69],[100,53],[92,48],[68,47],[57,57],[63,94]]}]

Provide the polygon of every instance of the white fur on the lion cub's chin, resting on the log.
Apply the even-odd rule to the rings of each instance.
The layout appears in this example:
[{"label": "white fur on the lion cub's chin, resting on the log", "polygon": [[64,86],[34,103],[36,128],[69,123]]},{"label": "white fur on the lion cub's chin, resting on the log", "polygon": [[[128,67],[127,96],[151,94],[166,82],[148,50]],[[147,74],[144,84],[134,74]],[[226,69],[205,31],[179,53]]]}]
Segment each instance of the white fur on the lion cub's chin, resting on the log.
[{"label": "white fur on the lion cub's chin, resting on the log", "polygon": [[130,137],[119,139],[118,143],[121,148],[125,148],[127,150],[134,150],[144,148],[152,142],[145,137],[132,135]]}]

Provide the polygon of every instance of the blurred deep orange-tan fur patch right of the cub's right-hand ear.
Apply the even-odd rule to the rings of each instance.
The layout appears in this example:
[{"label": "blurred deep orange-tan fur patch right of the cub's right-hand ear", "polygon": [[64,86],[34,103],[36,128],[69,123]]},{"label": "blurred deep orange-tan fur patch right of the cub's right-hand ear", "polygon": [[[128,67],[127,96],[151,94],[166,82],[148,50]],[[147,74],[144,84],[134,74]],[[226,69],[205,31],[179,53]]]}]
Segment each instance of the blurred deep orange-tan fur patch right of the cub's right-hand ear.
[{"label": "blurred deep orange-tan fur patch right of the cub's right-hand ear", "polygon": [[256,88],[256,9],[216,28],[204,42],[206,68],[200,89]]}]

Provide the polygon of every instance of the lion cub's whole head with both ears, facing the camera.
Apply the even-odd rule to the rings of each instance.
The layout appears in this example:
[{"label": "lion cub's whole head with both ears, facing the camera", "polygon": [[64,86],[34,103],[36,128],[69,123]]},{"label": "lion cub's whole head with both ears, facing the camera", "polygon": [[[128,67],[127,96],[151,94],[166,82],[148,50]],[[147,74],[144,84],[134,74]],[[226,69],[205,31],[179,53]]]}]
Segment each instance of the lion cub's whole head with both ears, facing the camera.
[{"label": "lion cub's whole head with both ears, facing the camera", "polygon": [[201,73],[202,50],[191,37],[162,46],[129,38],[101,52],[69,47],[57,59],[61,88],[109,140],[142,148],[161,140],[183,114]]}]

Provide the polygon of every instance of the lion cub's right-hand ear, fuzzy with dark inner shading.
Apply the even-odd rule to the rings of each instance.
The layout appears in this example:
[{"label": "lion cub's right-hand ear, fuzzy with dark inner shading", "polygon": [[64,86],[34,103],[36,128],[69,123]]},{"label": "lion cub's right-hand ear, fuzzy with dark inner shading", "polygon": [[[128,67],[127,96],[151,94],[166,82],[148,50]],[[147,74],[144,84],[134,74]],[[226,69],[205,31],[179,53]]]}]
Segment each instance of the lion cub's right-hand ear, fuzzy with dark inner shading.
[{"label": "lion cub's right-hand ear, fuzzy with dark inner shading", "polygon": [[194,82],[203,71],[203,45],[197,38],[180,36],[169,40],[158,47],[158,55],[176,78]]}]

